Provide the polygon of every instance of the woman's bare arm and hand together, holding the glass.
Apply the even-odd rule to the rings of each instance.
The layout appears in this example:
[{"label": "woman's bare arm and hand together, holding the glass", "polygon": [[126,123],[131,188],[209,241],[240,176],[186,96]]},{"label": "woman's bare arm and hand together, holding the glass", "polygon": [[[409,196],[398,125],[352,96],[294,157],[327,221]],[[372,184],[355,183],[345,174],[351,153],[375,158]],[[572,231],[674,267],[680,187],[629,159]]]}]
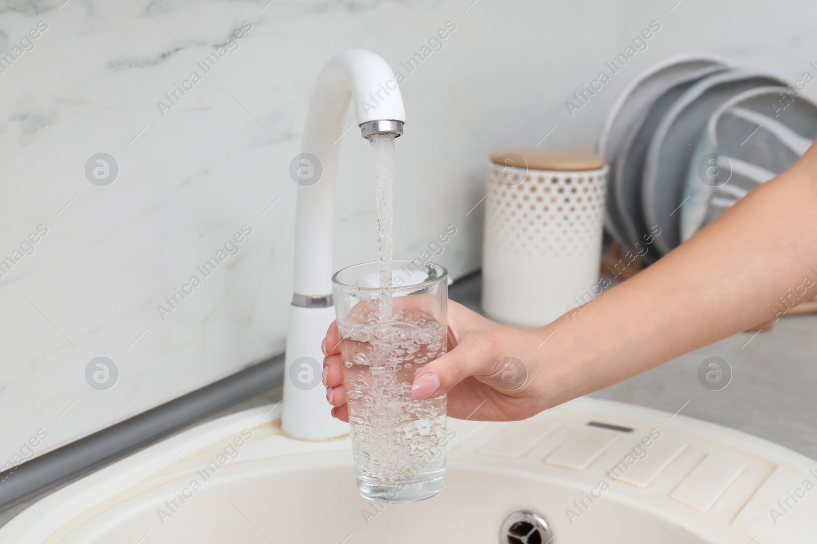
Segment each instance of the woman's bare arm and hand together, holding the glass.
[{"label": "woman's bare arm and hand together, holding the glass", "polygon": [[[412,394],[448,393],[454,418],[528,418],[778,319],[795,292],[798,301],[817,295],[815,210],[812,144],[663,259],[542,329],[497,325],[449,302],[449,352],[417,374]],[[347,421],[338,342],[333,324],[324,384],[333,415]]]}]

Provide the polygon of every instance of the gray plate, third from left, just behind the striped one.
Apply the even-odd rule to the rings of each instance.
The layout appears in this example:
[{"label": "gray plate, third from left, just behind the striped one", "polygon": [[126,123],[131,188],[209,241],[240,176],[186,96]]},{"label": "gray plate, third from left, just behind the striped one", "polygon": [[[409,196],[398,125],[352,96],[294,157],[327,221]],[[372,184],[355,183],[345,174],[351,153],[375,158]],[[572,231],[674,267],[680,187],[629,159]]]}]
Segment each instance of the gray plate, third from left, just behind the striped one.
[{"label": "gray plate, third from left, just behind the striped one", "polygon": [[655,237],[660,254],[681,243],[681,214],[676,212],[683,200],[687,167],[709,117],[734,95],[770,85],[785,83],[743,70],[716,73],[691,86],[664,116],[650,142],[641,187],[646,222],[661,229]]}]

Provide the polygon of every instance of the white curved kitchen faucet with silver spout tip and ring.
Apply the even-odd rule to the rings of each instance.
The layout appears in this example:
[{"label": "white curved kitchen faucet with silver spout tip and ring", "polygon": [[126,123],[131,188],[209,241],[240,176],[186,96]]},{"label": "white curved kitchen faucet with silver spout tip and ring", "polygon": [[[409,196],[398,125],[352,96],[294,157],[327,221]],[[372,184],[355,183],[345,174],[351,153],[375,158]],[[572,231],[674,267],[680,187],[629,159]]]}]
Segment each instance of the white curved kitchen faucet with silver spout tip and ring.
[{"label": "white curved kitchen faucet with silver spout tip and ring", "polygon": [[[324,355],[320,343],[335,319],[332,297],[333,192],[338,140],[350,100],[364,138],[378,132],[400,135],[405,108],[395,73],[382,57],[352,49],[334,56],[321,71],[304,129],[301,162],[315,175],[299,184],[295,215],[295,294],[289,309],[283,375],[282,427],[302,440],[326,440],[349,432],[330,416],[320,383]],[[315,365],[317,363],[317,365]]]}]

